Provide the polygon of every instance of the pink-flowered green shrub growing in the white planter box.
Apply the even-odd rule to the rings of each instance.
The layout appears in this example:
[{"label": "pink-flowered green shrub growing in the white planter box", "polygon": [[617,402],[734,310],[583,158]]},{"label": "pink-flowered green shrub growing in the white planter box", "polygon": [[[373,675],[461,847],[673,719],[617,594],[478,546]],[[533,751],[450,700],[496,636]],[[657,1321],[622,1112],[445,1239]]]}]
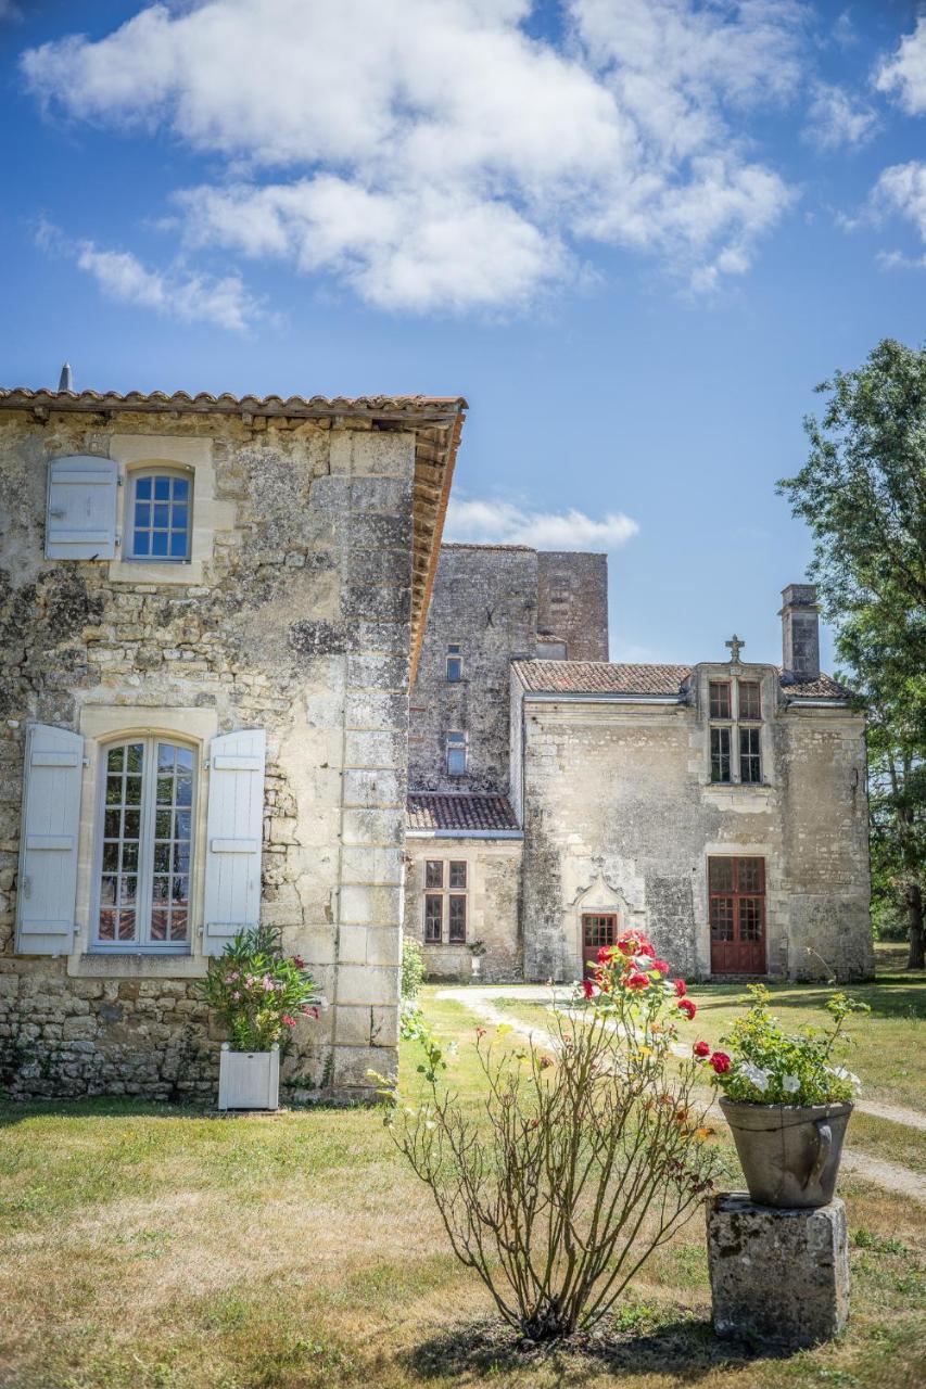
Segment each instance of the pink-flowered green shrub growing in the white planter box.
[{"label": "pink-flowered green shrub growing in the white planter box", "polygon": [[286,1051],[300,1017],[318,1017],[321,995],[300,956],[284,953],[278,931],[239,931],[196,988],[231,1033],[235,1051]]}]

